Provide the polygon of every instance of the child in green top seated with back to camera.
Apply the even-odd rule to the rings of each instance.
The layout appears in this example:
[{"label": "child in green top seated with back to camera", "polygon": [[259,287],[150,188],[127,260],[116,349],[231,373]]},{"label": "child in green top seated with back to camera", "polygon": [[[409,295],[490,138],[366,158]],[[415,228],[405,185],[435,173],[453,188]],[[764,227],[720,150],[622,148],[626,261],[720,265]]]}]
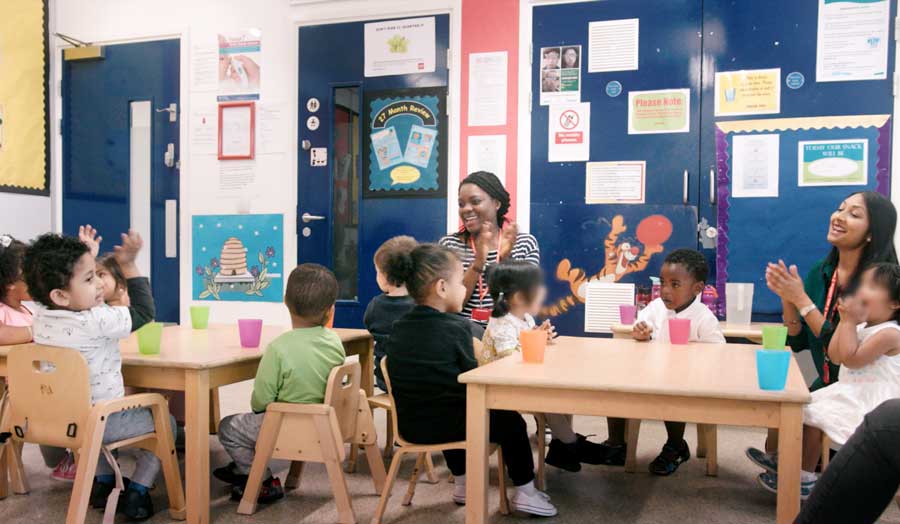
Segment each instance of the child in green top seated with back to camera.
[{"label": "child in green top seated with back to camera", "polygon": [[[216,469],[213,475],[231,484],[232,500],[244,496],[266,406],[272,402],[320,404],[325,400],[328,375],[346,358],[341,338],[325,328],[334,314],[337,296],[338,283],[328,269],[301,264],[291,272],[284,303],[294,329],[273,340],[263,354],[250,397],[253,412],[225,417],[219,424],[219,441],[233,462]],[[270,503],[282,497],[281,481],[267,468],[258,501]]]}]

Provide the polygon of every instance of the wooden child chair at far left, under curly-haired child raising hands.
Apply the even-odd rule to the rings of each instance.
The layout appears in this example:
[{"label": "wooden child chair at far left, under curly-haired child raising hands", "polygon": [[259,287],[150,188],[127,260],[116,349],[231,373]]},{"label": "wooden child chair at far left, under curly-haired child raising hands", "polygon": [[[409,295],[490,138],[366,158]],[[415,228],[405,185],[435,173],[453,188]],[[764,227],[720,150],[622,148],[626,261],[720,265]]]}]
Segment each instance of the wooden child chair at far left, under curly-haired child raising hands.
[{"label": "wooden child chair at far left, under curly-haired child raising hands", "polygon": [[[15,491],[28,492],[28,482],[20,455],[24,442],[71,449],[78,458],[75,484],[66,514],[67,524],[85,521],[91,486],[102,453],[116,476],[116,489],[110,494],[104,524],[115,517],[122,474],[113,457],[121,448],[142,448],[153,452],[162,463],[169,514],[184,520],[184,489],[178,470],[178,457],[165,399],[157,393],[141,393],[104,400],[91,406],[90,372],[78,351],[66,348],[28,344],[10,350],[7,359],[9,376],[9,419],[12,438],[0,455],[11,463]],[[103,444],[103,433],[110,415],[134,408],[149,408],[154,431],[146,435]]]}]

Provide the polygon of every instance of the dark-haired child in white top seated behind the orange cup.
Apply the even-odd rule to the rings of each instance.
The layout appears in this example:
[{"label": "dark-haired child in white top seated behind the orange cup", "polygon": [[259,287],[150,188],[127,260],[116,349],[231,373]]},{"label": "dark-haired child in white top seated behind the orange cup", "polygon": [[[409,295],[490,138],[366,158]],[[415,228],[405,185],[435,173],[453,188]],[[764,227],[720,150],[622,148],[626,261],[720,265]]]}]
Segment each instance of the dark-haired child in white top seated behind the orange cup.
[{"label": "dark-haired child in white top seated behind the orange cup", "polygon": [[[556,331],[550,321],[545,320],[540,326],[534,321],[547,298],[540,267],[523,260],[505,260],[488,270],[487,280],[494,309],[482,338],[482,351],[475,355],[478,365],[520,351],[519,333],[523,330],[546,331],[548,341],[553,341]],[[570,415],[546,413],[544,419],[553,433],[544,462],[572,472],[581,471],[582,462],[600,463],[603,449],[575,433]]]}]

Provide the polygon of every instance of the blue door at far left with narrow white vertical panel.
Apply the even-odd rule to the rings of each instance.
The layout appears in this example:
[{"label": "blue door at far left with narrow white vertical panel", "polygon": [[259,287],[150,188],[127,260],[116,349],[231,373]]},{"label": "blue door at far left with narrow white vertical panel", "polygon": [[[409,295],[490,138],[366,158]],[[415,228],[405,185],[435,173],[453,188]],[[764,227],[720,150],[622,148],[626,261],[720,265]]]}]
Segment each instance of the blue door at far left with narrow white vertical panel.
[{"label": "blue door at far left with narrow white vertical panel", "polygon": [[179,46],[105,46],[102,59],[65,61],[62,72],[63,232],[93,225],[103,253],[137,229],[146,251],[138,263],[166,322],[178,321],[179,173],[176,156],[164,155],[179,151]]}]

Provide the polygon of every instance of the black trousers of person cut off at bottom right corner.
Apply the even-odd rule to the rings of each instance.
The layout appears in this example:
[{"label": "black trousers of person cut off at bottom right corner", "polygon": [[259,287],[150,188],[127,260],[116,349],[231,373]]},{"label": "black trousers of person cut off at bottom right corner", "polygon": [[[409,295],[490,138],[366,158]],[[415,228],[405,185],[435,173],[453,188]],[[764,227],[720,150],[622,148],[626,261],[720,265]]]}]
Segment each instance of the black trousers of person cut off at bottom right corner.
[{"label": "black trousers of person cut off at bottom right corner", "polygon": [[878,520],[900,485],[900,399],[866,415],[816,482],[795,524]]}]

